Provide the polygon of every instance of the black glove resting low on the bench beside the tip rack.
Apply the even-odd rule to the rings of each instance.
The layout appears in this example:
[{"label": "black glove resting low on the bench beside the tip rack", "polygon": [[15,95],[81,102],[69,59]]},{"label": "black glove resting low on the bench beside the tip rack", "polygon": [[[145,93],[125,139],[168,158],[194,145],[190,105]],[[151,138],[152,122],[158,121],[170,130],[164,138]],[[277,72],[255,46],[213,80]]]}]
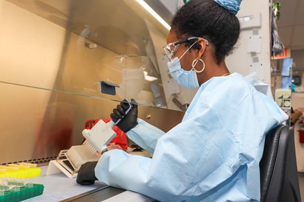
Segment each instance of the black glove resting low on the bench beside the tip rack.
[{"label": "black glove resting low on the bench beside the tip rack", "polygon": [[95,167],[98,161],[90,161],[82,164],[77,174],[76,182],[81,185],[94,184],[95,180]]}]

